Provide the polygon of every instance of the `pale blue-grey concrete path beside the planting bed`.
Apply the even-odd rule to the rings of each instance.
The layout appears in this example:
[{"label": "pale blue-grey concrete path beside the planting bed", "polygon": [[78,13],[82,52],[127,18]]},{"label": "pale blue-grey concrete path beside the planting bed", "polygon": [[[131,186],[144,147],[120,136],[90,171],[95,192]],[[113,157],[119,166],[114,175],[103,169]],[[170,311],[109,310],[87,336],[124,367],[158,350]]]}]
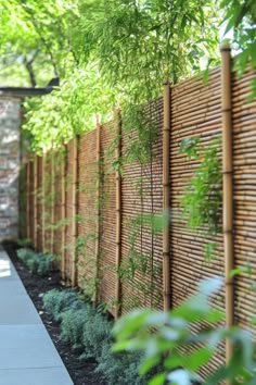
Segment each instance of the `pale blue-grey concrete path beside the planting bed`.
[{"label": "pale blue-grey concrete path beside the planting bed", "polygon": [[2,250],[0,385],[73,385],[34,303]]}]

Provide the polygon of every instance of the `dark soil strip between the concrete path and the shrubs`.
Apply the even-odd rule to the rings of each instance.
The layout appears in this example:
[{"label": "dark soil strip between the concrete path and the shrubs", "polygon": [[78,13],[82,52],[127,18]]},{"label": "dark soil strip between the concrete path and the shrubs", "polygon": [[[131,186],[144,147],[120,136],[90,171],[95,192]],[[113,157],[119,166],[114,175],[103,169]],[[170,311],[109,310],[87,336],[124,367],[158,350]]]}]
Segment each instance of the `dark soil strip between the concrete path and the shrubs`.
[{"label": "dark soil strip between the concrete path and the shrubs", "polygon": [[99,373],[95,373],[97,362],[94,360],[79,360],[79,352],[72,350],[68,344],[61,340],[60,324],[54,322],[49,316],[42,307],[42,295],[53,288],[61,289],[63,286],[60,284],[61,277],[59,272],[52,272],[48,277],[40,277],[31,274],[26,266],[17,259],[16,245],[3,244],[3,248],[11,258],[15,269],[26,287],[26,290],[31,298],[37,311],[44,323],[73,382],[74,385],[106,385],[106,382]]}]

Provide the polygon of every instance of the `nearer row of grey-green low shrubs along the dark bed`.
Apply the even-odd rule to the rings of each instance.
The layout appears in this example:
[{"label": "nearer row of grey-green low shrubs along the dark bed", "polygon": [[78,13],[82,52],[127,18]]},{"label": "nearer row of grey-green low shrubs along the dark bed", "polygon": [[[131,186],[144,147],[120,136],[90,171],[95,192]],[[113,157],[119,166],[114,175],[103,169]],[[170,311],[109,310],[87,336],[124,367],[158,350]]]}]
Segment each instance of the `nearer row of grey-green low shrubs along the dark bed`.
[{"label": "nearer row of grey-green low shrubs along the dark bed", "polygon": [[113,321],[102,312],[84,302],[79,294],[71,290],[51,290],[43,296],[46,311],[61,323],[61,338],[77,349],[80,360],[94,358],[97,372],[104,374],[107,384],[145,384],[139,375],[140,353],[112,350]]}]

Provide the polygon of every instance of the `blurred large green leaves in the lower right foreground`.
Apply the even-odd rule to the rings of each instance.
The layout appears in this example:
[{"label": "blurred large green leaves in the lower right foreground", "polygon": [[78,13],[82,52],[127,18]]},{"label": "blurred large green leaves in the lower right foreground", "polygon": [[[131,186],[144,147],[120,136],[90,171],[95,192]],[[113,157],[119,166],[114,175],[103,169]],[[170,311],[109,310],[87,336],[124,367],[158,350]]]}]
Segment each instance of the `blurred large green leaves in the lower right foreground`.
[{"label": "blurred large green leaves in the lower right foreground", "polygon": [[[117,339],[114,350],[145,353],[141,375],[163,364],[164,369],[151,378],[151,385],[165,384],[166,381],[185,385],[203,365],[207,365],[219,344],[228,338],[235,345],[230,362],[227,367],[220,364],[204,384],[219,384],[223,380],[233,384],[255,383],[255,348],[251,334],[216,324],[225,314],[210,305],[210,298],[220,286],[218,278],[203,281],[195,295],[168,313],[142,309],[123,316],[114,327]],[[207,328],[202,321],[208,323]],[[192,334],[195,323],[197,332]]]}]

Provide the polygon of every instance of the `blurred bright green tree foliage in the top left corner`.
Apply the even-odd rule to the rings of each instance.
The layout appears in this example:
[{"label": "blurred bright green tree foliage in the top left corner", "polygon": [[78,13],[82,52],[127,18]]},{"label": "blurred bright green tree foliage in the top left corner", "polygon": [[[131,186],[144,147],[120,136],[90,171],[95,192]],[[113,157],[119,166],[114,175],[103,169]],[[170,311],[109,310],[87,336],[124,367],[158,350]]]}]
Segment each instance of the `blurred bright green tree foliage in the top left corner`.
[{"label": "blurred bright green tree foliage in the top left corner", "polygon": [[1,73],[14,86],[46,85],[74,62],[78,1],[1,0],[0,17]]}]

